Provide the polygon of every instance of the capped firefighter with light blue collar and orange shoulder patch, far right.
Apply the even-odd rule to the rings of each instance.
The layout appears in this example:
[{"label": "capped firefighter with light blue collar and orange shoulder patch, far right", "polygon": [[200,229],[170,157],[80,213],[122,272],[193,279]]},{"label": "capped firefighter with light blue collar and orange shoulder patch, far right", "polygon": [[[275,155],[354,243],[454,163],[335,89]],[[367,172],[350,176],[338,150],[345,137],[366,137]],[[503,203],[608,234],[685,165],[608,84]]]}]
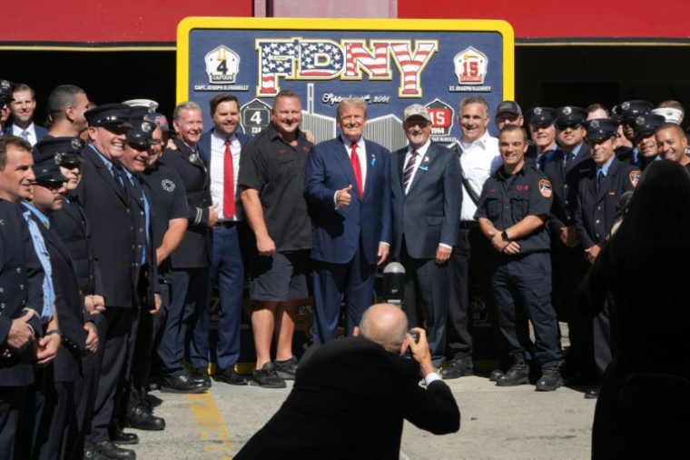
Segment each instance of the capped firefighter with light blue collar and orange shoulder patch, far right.
[{"label": "capped firefighter with light blue collar and orange shoulder patch, far right", "polygon": [[[595,167],[580,181],[577,189],[575,223],[584,255],[590,264],[596,260],[616,221],[616,203],[635,188],[640,178],[639,168],[621,163],[616,158],[618,122],[608,118],[586,122],[586,141]],[[611,362],[611,330],[608,308],[594,320],[595,363],[599,375],[604,375]],[[586,397],[596,397],[598,389],[587,391]]]}]

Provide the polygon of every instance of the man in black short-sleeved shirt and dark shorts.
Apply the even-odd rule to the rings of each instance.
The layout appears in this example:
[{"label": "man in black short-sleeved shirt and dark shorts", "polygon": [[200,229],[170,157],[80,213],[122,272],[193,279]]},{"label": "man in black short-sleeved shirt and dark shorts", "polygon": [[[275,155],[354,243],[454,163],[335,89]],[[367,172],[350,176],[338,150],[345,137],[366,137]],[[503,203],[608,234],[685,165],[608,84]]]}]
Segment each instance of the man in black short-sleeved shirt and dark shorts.
[{"label": "man in black short-sleeved shirt and dark shorts", "polygon": [[[256,369],[251,385],[285,386],[294,378],[292,333],[297,299],[308,295],[311,220],[302,190],[312,144],[300,131],[301,104],[291,91],[273,101],[271,125],[244,147],[237,184],[254,241],[249,245],[251,327]],[[275,326],[276,360],[271,363]]]}]

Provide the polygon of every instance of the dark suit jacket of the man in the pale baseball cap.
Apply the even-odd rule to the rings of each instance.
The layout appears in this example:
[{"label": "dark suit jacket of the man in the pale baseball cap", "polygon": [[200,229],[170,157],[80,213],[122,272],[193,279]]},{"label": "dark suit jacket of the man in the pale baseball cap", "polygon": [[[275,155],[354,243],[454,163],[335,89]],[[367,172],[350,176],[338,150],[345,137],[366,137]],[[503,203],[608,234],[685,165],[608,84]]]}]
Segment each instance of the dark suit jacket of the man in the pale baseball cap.
[{"label": "dark suit jacket of the man in the pale baseball cap", "polygon": [[419,169],[405,195],[402,170],[407,153],[408,147],[404,147],[390,155],[393,255],[399,257],[404,235],[411,257],[433,259],[440,243],[453,246],[458,241],[462,205],[460,162],[455,151],[432,142],[424,157],[419,158]]}]

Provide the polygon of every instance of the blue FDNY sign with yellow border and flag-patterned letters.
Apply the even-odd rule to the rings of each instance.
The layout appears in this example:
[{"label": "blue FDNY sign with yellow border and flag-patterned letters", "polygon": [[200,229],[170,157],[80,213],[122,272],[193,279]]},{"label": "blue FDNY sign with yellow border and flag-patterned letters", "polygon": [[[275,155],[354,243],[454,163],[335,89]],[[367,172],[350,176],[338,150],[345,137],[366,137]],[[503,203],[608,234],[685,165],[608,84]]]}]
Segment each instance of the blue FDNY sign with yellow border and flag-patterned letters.
[{"label": "blue FDNY sign with yellow border and flag-patterned letters", "polygon": [[490,107],[514,98],[513,49],[503,21],[190,17],[178,26],[177,100],[201,105],[208,130],[212,97],[234,95],[238,129],[258,135],[274,97],[289,90],[301,102],[301,129],[320,142],[340,134],[340,101],[359,98],[364,136],[391,150],[408,144],[402,114],[420,104],[431,138],[450,143],[461,134],[463,98],[482,95]]}]

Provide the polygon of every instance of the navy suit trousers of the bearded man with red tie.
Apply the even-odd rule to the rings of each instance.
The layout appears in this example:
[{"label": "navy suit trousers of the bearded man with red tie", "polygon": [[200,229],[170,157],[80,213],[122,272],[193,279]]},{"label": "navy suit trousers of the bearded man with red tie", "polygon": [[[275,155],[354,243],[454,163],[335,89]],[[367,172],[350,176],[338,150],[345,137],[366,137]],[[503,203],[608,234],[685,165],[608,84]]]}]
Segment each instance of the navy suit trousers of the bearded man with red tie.
[{"label": "navy suit trousers of the bearded man with red tie", "polygon": [[[234,367],[240,359],[240,320],[244,292],[244,255],[246,224],[227,224],[213,228],[213,259],[209,268],[207,299],[218,285],[218,344],[216,364],[219,368]],[[192,367],[209,365],[209,323],[211,303],[199,310],[190,345]]]}]

